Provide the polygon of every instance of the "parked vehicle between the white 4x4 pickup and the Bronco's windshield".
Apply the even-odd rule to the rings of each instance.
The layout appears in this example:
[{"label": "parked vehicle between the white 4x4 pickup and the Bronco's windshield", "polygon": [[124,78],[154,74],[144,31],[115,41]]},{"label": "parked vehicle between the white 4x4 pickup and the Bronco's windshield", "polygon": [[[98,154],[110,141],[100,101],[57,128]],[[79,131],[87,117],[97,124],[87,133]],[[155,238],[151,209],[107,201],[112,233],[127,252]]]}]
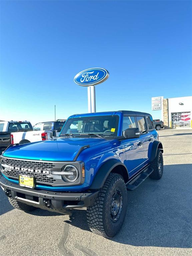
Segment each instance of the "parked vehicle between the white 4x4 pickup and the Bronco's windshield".
[{"label": "parked vehicle between the white 4x4 pickup and the Bronco's windshield", "polygon": [[42,122],[42,123],[37,123],[36,125],[33,126],[34,131],[44,131],[47,132],[47,138],[50,139],[50,132],[55,132],[56,135],[58,136],[61,129],[63,128],[63,125],[65,123],[65,119],[62,121],[51,121],[51,122]]}]

